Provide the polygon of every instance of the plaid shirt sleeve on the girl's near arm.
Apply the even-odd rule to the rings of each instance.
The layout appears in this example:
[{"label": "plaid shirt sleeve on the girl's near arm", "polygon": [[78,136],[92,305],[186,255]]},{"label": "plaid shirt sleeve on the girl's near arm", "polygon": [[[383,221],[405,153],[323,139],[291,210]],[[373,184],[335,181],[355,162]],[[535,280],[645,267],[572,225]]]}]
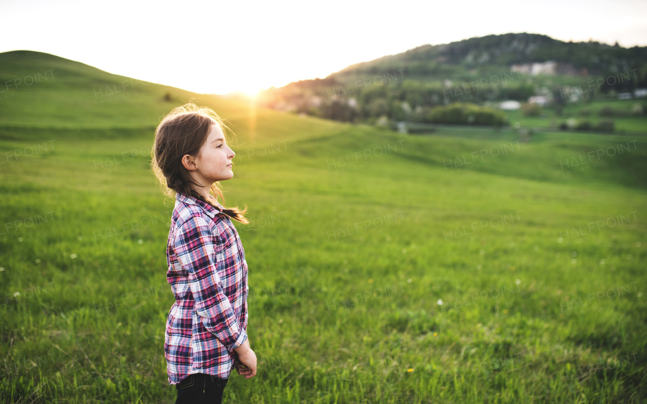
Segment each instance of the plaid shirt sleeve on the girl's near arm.
[{"label": "plaid shirt sleeve on the girl's near arm", "polygon": [[247,332],[223,291],[215,254],[218,240],[204,218],[192,217],[182,224],[173,248],[188,273],[195,311],[202,317],[204,328],[232,351],[245,342]]}]

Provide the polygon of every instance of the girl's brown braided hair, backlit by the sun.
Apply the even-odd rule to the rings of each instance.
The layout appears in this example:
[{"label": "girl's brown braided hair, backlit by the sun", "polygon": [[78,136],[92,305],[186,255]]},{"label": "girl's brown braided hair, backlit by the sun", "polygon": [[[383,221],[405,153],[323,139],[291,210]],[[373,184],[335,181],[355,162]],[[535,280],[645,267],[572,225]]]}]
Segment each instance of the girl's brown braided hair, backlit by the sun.
[{"label": "girl's brown braided hair, backlit by the sun", "polygon": [[[198,107],[194,103],[173,109],[155,129],[155,144],[151,153],[152,168],[164,193],[169,197],[174,198],[174,193],[181,192],[221,210],[216,205],[217,200],[223,200],[224,207],[225,196],[219,182],[212,184],[209,198],[205,200],[190,186],[199,184],[193,181],[188,169],[182,164],[182,156],[185,154],[196,156],[199,153],[211,131],[211,125],[219,125],[226,139],[225,131],[229,128],[212,109]],[[244,216],[247,207],[242,211],[238,207],[225,207],[222,212],[243,224],[248,224]]]}]

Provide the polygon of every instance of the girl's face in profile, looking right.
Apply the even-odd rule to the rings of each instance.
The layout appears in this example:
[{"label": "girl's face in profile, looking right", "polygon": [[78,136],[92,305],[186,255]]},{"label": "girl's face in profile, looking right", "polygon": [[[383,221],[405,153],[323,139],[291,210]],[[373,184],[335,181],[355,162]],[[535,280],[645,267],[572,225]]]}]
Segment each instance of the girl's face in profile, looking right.
[{"label": "girl's face in profile, looking right", "polygon": [[229,180],[234,176],[232,159],[236,153],[225,142],[219,125],[211,125],[206,142],[195,157],[197,171],[210,183]]}]

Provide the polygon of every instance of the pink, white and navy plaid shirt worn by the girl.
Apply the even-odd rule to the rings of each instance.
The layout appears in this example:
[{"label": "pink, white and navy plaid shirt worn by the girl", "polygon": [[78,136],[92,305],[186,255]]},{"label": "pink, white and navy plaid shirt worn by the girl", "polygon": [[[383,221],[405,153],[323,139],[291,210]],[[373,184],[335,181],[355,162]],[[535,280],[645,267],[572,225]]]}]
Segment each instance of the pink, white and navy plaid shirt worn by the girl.
[{"label": "pink, white and navy plaid shirt worn by the girl", "polygon": [[193,373],[226,379],[247,339],[247,261],[232,220],[177,193],[166,249],[175,303],[166,320],[168,381]]}]

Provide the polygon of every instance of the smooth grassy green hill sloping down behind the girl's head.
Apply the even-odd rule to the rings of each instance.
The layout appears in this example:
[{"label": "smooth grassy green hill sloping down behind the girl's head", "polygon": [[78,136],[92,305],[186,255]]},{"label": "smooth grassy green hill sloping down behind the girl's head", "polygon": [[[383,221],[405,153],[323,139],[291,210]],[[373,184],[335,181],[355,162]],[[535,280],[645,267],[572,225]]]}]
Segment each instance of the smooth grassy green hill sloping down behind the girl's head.
[{"label": "smooth grassy green hill sloping down behind the girl's head", "polygon": [[[34,76],[36,80],[30,81],[29,77]],[[11,133],[21,133],[15,135],[19,138],[38,136],[52,128],[65,129],[60,136],[72,138],[89,136],[87,129],[93,129],[98,136],[151,136],[162,116],[189,100],[208,105],[225,118],[239,144],[316,135],[332,125],[267,109],[257,111],[253,105],[237,100],[117,76],[41,52],[0,54],[0,80],[12,84],[0,93],[0,130],[5,138],[14,136]]]}]

